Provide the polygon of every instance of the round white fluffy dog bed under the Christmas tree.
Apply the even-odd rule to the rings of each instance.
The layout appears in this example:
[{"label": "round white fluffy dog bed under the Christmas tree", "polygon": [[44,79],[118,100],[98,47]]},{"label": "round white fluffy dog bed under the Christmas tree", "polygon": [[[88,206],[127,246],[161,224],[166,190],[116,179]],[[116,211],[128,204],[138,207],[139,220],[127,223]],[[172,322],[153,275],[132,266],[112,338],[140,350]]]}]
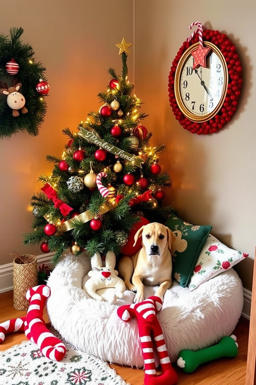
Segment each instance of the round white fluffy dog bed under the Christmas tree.
[{"label": "round white fluffy dog bed under the Christmas tree", "polygon": [[[134,293],[125,291],[124,299],[115,305],[90,298],[81,288],[90,269],[85,256],[72,254],[55,267],[47,283],[52,325],[64,340],[83,352],[112,363],[143,367],[137,321],[133,318],[125,323],[117,316],[117,307],[132,303]],[[146,286],[146,298],[155,290]],[[175,362],[183,349],[205,348],[230,335],[242,308],[243,287],[233,269],[192,292],[174,281],[158,315],[170,360]]]}]

